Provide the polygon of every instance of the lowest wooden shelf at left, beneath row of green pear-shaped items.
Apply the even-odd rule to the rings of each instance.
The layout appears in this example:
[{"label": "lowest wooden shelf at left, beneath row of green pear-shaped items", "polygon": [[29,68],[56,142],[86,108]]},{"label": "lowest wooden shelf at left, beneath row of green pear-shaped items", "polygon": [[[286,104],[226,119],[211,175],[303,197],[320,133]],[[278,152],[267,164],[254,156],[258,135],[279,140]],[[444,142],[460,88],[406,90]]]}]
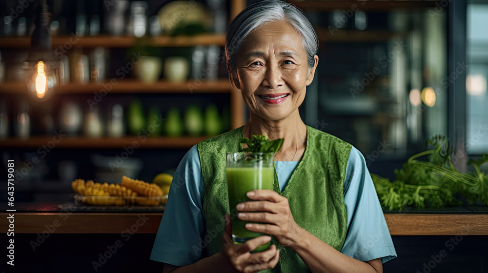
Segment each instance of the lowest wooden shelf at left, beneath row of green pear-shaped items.
[{"label": "lowest wooden shelf at left, beneath row of green pear-shaped items", "polygon": [[[116,148],[137,146],[139,148],[191,148],[193,145],[209,137],[63,137],[61,140],[56,137],[31,137],[29,139],[7,138],[0,140],[0,147],[36,148],[43,145],[54,148]],[[135,142],[137,142],[135,144]],[[48,144],[50,143],[50,144]]]}]

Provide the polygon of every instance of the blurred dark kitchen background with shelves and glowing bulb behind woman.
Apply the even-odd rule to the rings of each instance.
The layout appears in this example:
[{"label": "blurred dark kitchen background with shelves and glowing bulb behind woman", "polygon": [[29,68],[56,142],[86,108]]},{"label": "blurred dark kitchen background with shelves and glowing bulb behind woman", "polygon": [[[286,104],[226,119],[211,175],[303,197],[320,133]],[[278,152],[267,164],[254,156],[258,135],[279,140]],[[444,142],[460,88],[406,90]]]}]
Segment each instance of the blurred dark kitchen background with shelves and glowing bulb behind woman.
[{"label": "blurred dark kitchen background with shelves and glowing bulb behind woman", "polygon": [[[75,178],[151,181],[242,126],[224,33],[254,2],[1,0],[0,146],[16,200],[70,201]],[[306,124],[390,178],[435,134],[460,170],[488,153],[487,0],[288,2],[320,40]]]}]

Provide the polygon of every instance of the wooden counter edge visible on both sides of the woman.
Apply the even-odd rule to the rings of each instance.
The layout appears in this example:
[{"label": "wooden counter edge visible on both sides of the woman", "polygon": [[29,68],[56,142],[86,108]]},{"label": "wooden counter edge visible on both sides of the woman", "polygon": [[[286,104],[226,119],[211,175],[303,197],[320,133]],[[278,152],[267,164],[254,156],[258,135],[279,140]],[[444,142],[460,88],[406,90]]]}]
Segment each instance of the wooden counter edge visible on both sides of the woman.
[{"label": "wooden counter edge visible on both sides of the woman", "polygon": [[[15,233],[155,234],[163,213],[15,213]],[[8,230],[1,213],[0,230]],[[391,235],[488,235],[488,214],[385,214]]]}]

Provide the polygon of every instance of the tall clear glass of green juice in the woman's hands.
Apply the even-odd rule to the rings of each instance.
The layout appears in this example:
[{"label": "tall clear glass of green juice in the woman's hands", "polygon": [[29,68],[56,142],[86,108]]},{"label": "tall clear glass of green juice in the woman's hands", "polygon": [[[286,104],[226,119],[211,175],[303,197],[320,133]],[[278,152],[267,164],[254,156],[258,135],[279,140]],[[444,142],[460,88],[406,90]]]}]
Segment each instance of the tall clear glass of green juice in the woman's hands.
[{"label": "tall clear glass of green juice in the woman's hands", "polygon": [[[232,212],[237,204],[251,201],[246,194],[252,190],[273,190],[274,153],[227,153],[227,187],[229,208]],[[232,215],[232,238],[235,244],[266,234],[252,232],[245,228],[247,221]],[[262,223],[258,223],[262,224]],[[254,252],[269,249],[269,242],[257,247]]]}]

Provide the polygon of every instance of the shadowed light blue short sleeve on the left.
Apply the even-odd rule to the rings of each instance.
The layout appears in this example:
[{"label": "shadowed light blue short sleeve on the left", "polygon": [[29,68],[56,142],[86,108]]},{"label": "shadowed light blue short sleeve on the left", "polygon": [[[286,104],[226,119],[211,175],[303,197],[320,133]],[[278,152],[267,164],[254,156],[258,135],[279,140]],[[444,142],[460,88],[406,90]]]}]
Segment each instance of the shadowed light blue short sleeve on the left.
[{"label": "shadowed light blue short sleeve on the left", "polygon": [[203,176],[197,145],[180,162],[169,189],[168,202],[154,241],[150,259],[184,266],[202,258],[205,232]]}]

